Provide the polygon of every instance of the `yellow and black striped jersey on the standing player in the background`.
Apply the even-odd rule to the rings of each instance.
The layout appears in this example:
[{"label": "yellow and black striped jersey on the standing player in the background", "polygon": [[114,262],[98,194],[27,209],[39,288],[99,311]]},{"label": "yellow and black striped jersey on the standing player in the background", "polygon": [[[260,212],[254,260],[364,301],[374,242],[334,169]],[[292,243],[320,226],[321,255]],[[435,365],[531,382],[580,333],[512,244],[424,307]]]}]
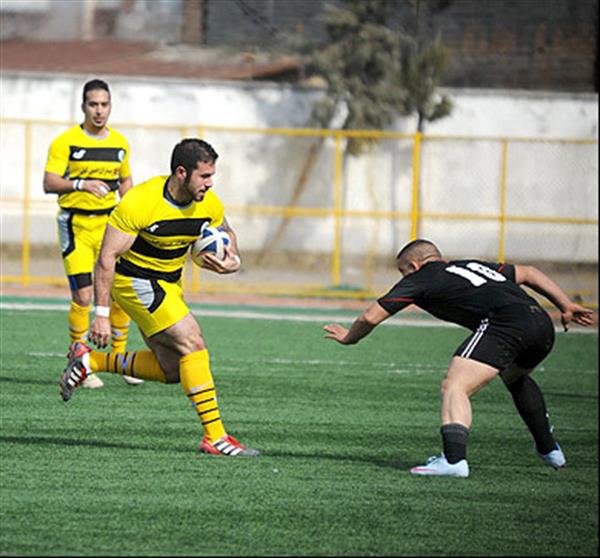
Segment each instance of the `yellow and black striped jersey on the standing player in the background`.
[{"label": "yellow and black striped jersey on the standing player in the background", "polygon": [[116,192],[120,179],[131,176],[129,144],[116,130],[107,128],[107,131],[105,137],[98,139],[86,134],[83,126],[78,124],[57,136],[50,144],[46,172],[68,180],[102,180],[111,189],[102,199],[81,191],[60,194],[58,205],[63,209],[101,211],[117,205]]}]

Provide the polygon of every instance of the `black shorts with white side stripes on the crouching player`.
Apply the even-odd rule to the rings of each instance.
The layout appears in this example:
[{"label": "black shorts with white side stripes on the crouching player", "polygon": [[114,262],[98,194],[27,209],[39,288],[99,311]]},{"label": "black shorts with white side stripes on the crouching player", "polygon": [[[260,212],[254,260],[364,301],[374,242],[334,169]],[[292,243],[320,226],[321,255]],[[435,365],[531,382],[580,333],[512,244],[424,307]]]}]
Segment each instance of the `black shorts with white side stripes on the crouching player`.
[{"label": "black shorts with white side stripes on the crouching player", "polygon": [[513,364],[531,369],[548,356],[553,345],[554,325],[547,312],[534,304],[514,304],[482,320],[454,356],[498,370]]}]

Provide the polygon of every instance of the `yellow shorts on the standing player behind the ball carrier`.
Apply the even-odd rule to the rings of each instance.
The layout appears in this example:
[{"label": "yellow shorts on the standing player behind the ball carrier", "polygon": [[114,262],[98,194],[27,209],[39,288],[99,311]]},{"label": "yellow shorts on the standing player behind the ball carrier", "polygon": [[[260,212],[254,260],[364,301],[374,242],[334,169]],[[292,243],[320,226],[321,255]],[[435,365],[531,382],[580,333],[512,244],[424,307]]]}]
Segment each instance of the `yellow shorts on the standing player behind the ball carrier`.
[{"label": "yellow shorts on the standing player behind the ball carrier", "polygon": [[[71,289],[91,285],[91,273],[100,253],[108,215],[80,215],[60,209],[56,221],[63,265]],[[89,274],[89,278],[83,280],[85,284],[75,277],[81,274]]]}]

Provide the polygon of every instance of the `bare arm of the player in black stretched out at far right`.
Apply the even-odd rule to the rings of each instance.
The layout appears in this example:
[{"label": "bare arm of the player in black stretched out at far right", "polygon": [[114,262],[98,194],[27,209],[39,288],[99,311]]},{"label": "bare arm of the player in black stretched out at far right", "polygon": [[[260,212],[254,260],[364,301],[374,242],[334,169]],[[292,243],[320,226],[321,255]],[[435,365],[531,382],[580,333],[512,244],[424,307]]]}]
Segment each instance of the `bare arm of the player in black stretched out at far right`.
[{"label": "bare arm of the player in black stretched out at far right", "polygon": [[569,329],[571,322],[582,326],[594,324],[594,311],[573,302],[567,293],[538,268],[532,265],[515,265],[515,282],[528,286],[552,302],[560,310],[565,331]]}]

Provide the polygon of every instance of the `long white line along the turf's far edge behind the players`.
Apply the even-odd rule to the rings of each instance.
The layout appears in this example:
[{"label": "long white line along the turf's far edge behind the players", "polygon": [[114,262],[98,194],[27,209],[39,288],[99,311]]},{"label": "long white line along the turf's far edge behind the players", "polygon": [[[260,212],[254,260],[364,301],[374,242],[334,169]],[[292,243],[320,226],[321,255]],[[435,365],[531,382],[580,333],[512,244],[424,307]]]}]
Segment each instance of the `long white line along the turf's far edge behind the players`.
[{"label": "long white line along the turf's far edge behind the players", "polygon": [[[68,312],[69,305],[65,303],[49,303],[40,304],[36,302],[0,302],[0,310],[15,310],[15,311],[56,311],[61,310]],[[348,316],[343,314],[290,314],[290,313],[276,313],[276,312],[257,312],[253,310],[226,310],[226,309],[210,309],[210,308],[192,308],[192,314],[198,317],[215,317],[215,318],[236,318],[242,320],[283,320],[290,322],[311,322],[311,323],[331,323],[341,322],[351,324],[355,316]],[[358,313],[356,314],[358,315]],[[414,327],[460,327],[456,324],[443,322],[424,316],[423,318],[410,318],[401,313],[392,316],[389,320],[386,320],[381,324],[382,326],[414,326]],[[562,327],[555,327],[557,332],[562,332]],[[570,333],[588,333],[597,334],[596,328],[579,328],[574,327],[569,330]]]}]

